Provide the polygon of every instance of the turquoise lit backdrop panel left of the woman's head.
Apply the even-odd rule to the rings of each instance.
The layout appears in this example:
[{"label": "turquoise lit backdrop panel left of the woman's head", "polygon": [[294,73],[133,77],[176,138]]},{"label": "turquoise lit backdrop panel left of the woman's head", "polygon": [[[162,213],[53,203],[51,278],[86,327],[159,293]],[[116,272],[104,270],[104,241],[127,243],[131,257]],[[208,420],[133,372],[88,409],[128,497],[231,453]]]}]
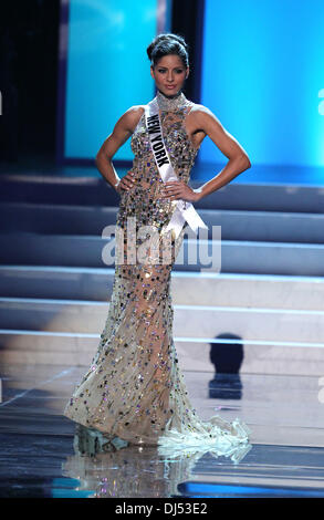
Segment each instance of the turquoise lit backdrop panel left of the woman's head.
[{"label": "turquoise lit backdrop panel left of the woman's head", "polygon": [[[157,32],[157,0],[70,0],[65,158],[94,158],[132,105],[154,95],[146,46]],[[129,141],[115,159],[129,160]]]}]

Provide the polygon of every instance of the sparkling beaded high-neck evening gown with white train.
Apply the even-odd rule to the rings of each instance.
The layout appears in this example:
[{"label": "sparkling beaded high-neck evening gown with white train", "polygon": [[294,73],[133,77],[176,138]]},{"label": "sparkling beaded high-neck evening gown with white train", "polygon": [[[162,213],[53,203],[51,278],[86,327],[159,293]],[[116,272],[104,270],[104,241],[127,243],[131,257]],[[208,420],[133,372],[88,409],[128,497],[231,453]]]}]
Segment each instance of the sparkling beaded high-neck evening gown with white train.
[{"label": "sparkling beaded high-neck evening gown with white train", "polygon": [[[182,92],[168,98],[158,91],[156,98],[175,174],[188,184],[198,152],[185,127],[194,103]],[[177,200],[160,198],[163,180],[150,148],[145,113],[130,145],[135,183],[121,195],[116,237],[122,240],[116,239],[115,259],[122,260],[115,261],[107,318],[92,363],[63,413],[77,424],[81,451],[148,445],[176,451],[181,447],[210,448],[231,456],[244,450],[249,428],[238,418],[231,423],[218,415],[201,420],[190,404],[179,367],[173,337],[170,277],[185,227],[178,237],[168,230],[170,240],[164,240]],[[127,236],[129,222],[134,232]],[[133,241],[136,252],[144,247],[145,236],[138,232],[143,226],[153,226],[157,231],[160,248],[155,263],[149,254],[145,262],[132,260],[132,254],[129,261],[129,252],[127,257],[127,240]],[[169,263],[161,259],[166,247],[169,257],[164,259],[169,258]]]}]

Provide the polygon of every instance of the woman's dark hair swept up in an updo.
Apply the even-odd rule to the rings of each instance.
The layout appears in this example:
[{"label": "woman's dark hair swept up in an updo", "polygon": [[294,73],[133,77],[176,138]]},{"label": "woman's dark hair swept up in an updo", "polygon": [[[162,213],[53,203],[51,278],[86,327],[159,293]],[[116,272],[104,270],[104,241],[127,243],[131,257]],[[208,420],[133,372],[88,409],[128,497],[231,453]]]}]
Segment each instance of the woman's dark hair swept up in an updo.
[{"label": "woman's dark hair swept up in an updo", "polygon": [[177,54],[186,67],[189,65],[188,45],[185,39],[178,34],[158,34],[150,42],[146,52],[153,65],[156,65],[160,58],[169,54]]}]

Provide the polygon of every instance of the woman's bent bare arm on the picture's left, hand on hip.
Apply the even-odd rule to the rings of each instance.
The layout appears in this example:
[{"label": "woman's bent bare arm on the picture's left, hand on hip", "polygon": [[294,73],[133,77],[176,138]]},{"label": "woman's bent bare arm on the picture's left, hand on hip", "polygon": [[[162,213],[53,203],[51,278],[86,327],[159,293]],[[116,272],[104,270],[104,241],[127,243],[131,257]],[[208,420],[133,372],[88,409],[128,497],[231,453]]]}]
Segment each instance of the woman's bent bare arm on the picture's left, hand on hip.
[{"label": "woman's bent bare arm on the picture's left, hand on hip", "polygon": [[132,106],[122,117],[117,121],[113,133],[104,141],[100,150],[95,156],[95,164],[98,171],[105,180],[121,194],[121,188],[129,189],[133,186],[132,175],[125,175],[122,179],[118,177],[114,165],[112,163],[113,156],[130,137],[137,123],[144,113],[144,107]]}]

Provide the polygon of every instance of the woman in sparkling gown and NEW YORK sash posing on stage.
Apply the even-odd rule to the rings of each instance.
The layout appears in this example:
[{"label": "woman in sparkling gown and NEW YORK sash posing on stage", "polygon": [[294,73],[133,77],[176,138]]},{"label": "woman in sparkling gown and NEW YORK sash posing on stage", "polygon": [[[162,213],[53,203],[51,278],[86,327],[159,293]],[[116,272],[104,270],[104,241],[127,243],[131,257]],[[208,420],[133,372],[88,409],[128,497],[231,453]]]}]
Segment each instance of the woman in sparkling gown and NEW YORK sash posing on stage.
[{"label": "woman in sparkling gown and NEW YORK sash posing on stage", "polygon": [[[64,415],[79,424],[77,443],[85,451],[134,444],[177,449],[181,445],[199,448],[206,445],[230,454],[248,443],[248,428],[238,419],[231,424],[219,416],[208,423],[200,420],[187,397],[178,366],[170,274],[185,229],[177,226],[168,229],[168,225],[174,222],[171,217],[180,201],[189,205],[200,200],[249,168],[250,162],[217,117],[188,101],[181,92],[189,74],[184,39],[160,34],[150,43],[147,54],[157,87],[155,104],[129,108],[96,156],[98,170],[121,195],[116,229],[122,239],[116,243],[116,258],[122,261],[115,262],[109,311],[97,353]],[[147,112],[151,106],[157,107],[158,114]],[[157,133],[159,121],[161,135]],[[112,157],[130,135],[134,164],[119,179]],[[191,189],[190,169],[207,135],[229,162],[218,176]],[[171,163],[167,167],[174,168],[171,177],[177,180],[164,183],[161,170],[167,157]],[[182,215],[178,214],[177,223],[182,222]],[[200,225],[197,214],[194,220]],[[132,229],[127,235],[129,222],[135,239]],[[147,229],[145,226],[156,231],[159,257],[154,257],[155,248],[149,247],[145,261],[138,262],[129,250],[133,245],[133,253],[143,252],[140,231]],[[166,249],[168,262],[161,261]]]}]

